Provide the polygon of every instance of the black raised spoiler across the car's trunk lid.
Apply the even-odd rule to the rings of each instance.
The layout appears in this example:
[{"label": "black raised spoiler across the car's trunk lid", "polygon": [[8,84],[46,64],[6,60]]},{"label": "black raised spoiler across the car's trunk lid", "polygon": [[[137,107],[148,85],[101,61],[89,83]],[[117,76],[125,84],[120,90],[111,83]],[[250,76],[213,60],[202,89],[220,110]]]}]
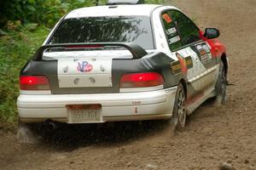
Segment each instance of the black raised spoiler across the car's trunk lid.
[{"label": "black raised spoiler across the car's trunk lid", "polygon": [[148,53],[139,45],[132,42],[86,42],[86,43],[55,43],[47,44],[38,48],[36,54],[32,57],[33,60],[41,60],[44,50],[48,48],[102,48],[105,46],[119,46],[128,49],[133,58],[140,59]]}]

